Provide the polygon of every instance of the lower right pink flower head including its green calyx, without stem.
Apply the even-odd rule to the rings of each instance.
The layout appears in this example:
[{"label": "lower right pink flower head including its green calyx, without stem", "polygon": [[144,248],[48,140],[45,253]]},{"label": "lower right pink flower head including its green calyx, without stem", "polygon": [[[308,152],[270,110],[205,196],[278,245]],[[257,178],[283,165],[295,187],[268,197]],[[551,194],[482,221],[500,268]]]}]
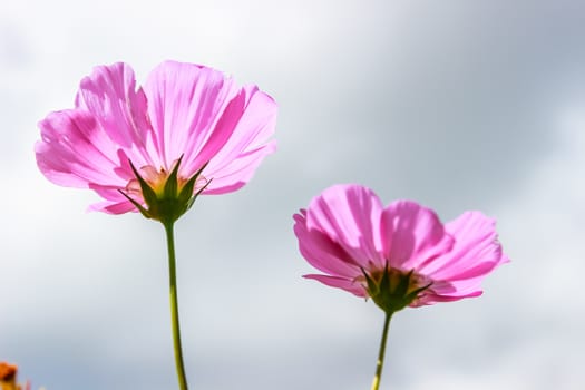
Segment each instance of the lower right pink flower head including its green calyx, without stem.
[{"label": "lower right pink flower head including its green calyx, without stem", "polygon": [[442,224],[410,201],[383,206],[369,188],[335,185],[294,215],[301,254],[325,274],[305,275],[369,298],[387,313],[481,294],[508,261],[495,220],[466,212]]}]

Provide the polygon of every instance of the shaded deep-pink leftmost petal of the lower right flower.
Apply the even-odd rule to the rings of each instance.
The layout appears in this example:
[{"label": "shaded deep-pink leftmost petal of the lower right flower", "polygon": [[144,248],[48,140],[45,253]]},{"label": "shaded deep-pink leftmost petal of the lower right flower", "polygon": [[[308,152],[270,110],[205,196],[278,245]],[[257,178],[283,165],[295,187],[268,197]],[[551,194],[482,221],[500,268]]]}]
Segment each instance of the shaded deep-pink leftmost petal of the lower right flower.
[{"label": "shaded deep-pink leftmost petal of the lower right flower", "polygon": [[362,274],[359,266],[338,243],[319,230],[309,230],[306,212],[295,214],[294,234],[299,238],[299,250],[315,269],[330,275],[354,279]]}]

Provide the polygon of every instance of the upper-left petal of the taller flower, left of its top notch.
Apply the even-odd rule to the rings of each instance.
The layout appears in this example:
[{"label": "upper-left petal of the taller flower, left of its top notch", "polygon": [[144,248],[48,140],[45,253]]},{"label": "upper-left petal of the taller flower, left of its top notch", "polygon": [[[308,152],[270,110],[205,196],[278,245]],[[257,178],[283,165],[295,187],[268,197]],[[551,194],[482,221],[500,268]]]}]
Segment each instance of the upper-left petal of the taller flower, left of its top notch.
[{"label": "upper-left petal of the taller flower, left of its top notch", "polygon": [[123,147],[136,166],[162,166],[146,114],[146,97],[142,89],[136,90],[134,70],[128,65],[94,68],[81,80],[76,105],[99,123],[105,133],[103,146]]}]

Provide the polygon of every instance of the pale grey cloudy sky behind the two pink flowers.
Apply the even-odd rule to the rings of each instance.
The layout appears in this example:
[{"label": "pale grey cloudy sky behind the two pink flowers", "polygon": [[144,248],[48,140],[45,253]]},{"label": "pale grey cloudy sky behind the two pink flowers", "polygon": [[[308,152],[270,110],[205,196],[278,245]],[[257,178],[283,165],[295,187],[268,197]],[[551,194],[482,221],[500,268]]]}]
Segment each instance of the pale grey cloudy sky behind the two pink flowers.
[{"label": "pale grey cloudy sky behind the two pink flowers", "polygon": [[292,214],[334,183],[498,220],[479,299],[407,309],[381,388],[585,384],[585,3],[25,0],[0,4],[0,360],[48,390],[176,389],[163,227],[87,213],[37,123],[92,67],[165,59],[257,84],[276,154],[176,226],[193,389],[369,389],[383,316],[302,280]]}]

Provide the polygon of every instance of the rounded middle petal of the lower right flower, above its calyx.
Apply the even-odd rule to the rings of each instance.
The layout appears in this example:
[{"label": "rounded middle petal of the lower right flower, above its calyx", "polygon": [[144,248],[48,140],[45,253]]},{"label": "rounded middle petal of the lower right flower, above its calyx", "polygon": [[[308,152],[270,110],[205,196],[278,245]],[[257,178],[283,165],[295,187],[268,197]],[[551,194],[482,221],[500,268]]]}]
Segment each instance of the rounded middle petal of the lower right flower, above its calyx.
[{"label": "rounded middle petal of the lower right flower, above its calyx", "polygon": [[389,265],[402,271],[415,269],[417,273],[452,246],[437,214],[410,201],[386,207],[382,237]]}]

